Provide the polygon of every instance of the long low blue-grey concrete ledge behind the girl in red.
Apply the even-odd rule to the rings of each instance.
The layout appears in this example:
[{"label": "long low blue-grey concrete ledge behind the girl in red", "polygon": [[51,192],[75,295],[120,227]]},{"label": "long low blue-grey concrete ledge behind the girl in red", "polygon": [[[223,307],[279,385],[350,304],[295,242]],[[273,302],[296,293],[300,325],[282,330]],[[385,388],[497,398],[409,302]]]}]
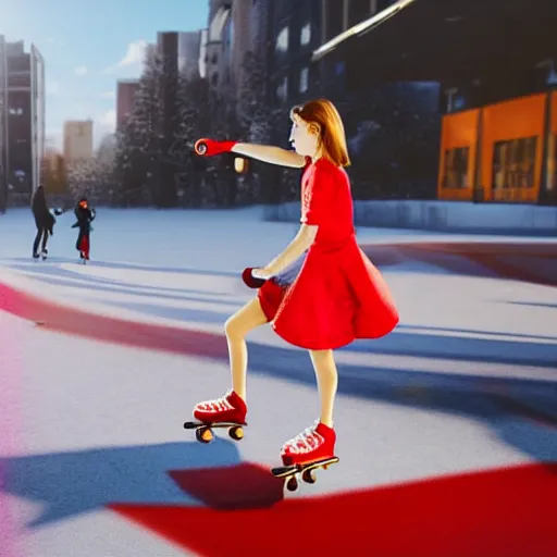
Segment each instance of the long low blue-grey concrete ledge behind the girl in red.
[{"label": "long low blue-grey concrete ledge behind the girl in red", "polygon": [[[267,206],[269,221],[295,222],[300,203]],[[355,201],[356,226],[467,234],[557,236],[557,207],[466,201]]]}]

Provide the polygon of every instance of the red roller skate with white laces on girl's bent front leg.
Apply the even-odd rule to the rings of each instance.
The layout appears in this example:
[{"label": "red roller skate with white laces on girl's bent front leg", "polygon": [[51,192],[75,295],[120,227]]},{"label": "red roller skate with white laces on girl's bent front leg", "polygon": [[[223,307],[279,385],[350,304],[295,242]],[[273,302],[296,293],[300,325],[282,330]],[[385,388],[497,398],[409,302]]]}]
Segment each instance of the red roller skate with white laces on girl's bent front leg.
[{"label": "red roller skate with white laces on girl's bent front leg", "polygon": [[246,403],[234,392],[228,391],[223,397],[199,403],[194,408],[197,421],[184,423],[186,430],[196,430],[200,443],[213,440],[213,428],[228,428],[228,435],[234,441],[244,438],[243,425],[246,423]]}]

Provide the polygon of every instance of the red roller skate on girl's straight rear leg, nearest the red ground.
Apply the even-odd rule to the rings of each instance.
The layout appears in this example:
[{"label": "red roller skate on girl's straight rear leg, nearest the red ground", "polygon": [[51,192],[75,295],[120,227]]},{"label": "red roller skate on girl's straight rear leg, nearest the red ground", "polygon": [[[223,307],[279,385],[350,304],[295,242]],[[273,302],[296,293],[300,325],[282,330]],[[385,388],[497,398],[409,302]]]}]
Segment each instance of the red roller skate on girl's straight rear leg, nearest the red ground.
[{"label": "red roller skate on girl's straight rear leg, nearest the red ground", "polygon": [[297,474],[306,483],[315,483],[314,470],[326,470],[338,462],[338,457],[334,456],[335,443],[335,431],[317,422],[283,445],[281,457],[284,466],[273,468],[271,473],[275,478],[284,478],[289,492],[298,488]]}]

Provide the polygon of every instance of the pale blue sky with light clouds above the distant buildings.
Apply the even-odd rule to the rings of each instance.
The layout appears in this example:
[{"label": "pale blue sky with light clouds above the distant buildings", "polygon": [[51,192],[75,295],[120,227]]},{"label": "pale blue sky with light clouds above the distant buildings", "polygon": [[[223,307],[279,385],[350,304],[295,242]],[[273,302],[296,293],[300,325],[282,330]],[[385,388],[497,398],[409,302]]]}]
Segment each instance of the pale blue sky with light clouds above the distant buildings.
[{"label": "pale blue sky with light clouds above the distant buildings", "polygon": [[158,30],[207,27],[209,0],[0,0],[0,34],[34,42],[45,58],[47,136],[61,147],[65,120],[113,131],[115,84],[138,77]]}]

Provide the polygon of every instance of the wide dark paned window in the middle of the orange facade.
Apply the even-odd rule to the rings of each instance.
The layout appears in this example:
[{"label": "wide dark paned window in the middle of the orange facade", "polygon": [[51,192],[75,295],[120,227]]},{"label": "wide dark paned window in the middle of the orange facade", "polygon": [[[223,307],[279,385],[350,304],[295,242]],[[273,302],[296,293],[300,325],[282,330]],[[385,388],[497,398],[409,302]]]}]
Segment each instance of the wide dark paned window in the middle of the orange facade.
[{"label": "wide dark paned window in the middle of the orange facade", "polygon": [[[534,186],[537,137],[497,141],[493,149],[492,184],[494,193]],[[499,197],[499,196],[497,196]],[[503,195],[504,199],[507,196]]]}]

